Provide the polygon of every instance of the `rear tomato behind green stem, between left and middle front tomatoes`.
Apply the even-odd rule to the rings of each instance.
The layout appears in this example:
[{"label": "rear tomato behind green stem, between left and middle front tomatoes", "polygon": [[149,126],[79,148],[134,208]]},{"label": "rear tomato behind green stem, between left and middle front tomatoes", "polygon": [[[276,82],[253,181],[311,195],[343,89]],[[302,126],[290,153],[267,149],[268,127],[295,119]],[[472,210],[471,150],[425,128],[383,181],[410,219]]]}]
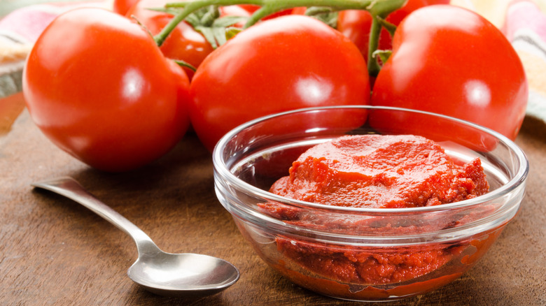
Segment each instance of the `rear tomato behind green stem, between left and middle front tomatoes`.
[{"label": "rear tomato behind green stem, between left and middle front tomatoes", "polygon": [[[152,35],[160,31],[172,20],[173,16],[167,13],[161,13],[148,8],[160,8],[170,3],[170,0],[141,0],[136,6],[133,6],[128,12],[127,17],[134,17],[144,24],[144,27]],[[250,15],[246,10],[238,6],[225,6],[221,8],[221,15]],[[239,27],[242,27],[239,24]],[[194,67],[201,64],[203,59],[209,55],[214,48],[211,44],[190,24],[180,22],[176,28],[167,36],[165,42],[160,47],[165,57],[169,59],[180,59],[186,61]],[[184,68],[190,80],[193,78],[194,71],[190,68]]]}]

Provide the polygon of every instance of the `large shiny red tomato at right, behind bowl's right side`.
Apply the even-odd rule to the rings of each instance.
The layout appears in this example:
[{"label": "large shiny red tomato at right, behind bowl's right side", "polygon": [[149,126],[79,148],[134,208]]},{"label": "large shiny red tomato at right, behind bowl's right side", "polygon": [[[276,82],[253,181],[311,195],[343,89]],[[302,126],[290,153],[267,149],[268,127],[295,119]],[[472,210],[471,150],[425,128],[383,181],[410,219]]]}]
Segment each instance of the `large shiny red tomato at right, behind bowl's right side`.
[{"label": "large shiny red tomato at right, behind bowl's right side", "polygon": [[[457,6],[420,8],[402,21],[372,94],[373,105],[449,115],[511,139],[527,99],[524,68],[510,42],[484,17]],[[413,124],[427,129],[426,122]]]}]

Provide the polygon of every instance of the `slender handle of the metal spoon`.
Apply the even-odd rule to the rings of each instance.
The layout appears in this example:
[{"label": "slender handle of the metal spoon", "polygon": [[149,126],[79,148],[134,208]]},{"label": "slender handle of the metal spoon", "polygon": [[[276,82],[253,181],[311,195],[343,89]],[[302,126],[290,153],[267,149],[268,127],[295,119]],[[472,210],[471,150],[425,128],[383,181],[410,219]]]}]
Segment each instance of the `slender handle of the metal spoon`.
[{"label": "slender handle of the metal spoon", "polygon": [[116,212],[116,210],[113,210],[108,205],[99,201],[73,178],[59,177],[52,180],[34,182],[31,184],[31,186],[49,190],[61,196],[66,196],[66,198],[76,201],[77,203],[89,208],[92,210],[92,212],[103,217],[106,219],[106,221],[109,221],[111,224],[130,235],[134,242],[137,243],[139,252],[149,254],[159,251],[158,247],[151,240],[151,238],[144,233],[144,231],[132,224],[131,221]]}]

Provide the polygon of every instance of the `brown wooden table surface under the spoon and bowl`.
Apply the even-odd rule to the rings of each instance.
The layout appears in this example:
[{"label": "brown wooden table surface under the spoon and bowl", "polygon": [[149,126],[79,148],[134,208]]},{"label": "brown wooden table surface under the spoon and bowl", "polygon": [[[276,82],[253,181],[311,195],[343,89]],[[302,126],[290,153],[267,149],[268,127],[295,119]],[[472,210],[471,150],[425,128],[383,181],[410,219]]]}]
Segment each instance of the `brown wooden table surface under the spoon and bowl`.
[{"label": "brown wooden table surface under the spoon and bowl", "polygon": [[[195,136],[149,166],[110,174],[57,149],[26,110],[2,133],[2,305],[362,305],[301,289],[253,253],[214,194],[211,155]],[[546,305],[546,125],[526,118],[516,142],[531,163],[526,197],[489,253],[442,289],[381,305]],[[137,258],[129,236],[85,207],[29,185],[62,175],[75,177],[165,251],[234,263],[239,282],[193,301],[141,289],[126,275]]]}]

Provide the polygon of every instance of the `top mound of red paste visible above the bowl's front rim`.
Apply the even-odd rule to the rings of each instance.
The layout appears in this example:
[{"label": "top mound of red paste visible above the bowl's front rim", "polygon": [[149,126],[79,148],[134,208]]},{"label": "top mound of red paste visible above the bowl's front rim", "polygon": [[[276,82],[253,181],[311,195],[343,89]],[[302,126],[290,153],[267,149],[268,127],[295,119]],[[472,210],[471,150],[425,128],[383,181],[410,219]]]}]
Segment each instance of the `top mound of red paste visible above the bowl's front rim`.
[{"label": "top mound of red paste visible above the bowl's front rim", "polygon": [[311,147],[270,191],[325,205],[401,208],[475,198],[489,190],[479,159],[457,166],[419,136],[343,136]]}]

